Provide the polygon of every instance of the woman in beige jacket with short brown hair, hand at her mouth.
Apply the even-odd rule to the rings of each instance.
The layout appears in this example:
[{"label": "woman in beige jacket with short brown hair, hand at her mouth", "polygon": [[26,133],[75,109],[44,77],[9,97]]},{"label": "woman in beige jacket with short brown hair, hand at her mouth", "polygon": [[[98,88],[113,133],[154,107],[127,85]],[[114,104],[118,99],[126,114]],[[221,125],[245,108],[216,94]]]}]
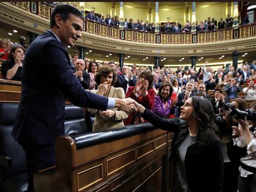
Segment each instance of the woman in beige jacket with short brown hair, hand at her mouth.
[{"label": "woman in beige jacket with short brown hair, hand at her mouth", "polygon": [[[93,93],[106,96],[108,98],[124,99],[125,94],[122,88],[114,88],[117,77],[116,72],[109,66],[102,66],[95,75],[95,81],[98,85],[98,90],[92,90]],[[103,131],[111,128],[124,126],[123,119],[128,117],[128,114],[119,109],[107,109],[101,111],[98,109],[88,109],[91,114],[96,114],[95,122],[93,123],[93,131]]]}]

